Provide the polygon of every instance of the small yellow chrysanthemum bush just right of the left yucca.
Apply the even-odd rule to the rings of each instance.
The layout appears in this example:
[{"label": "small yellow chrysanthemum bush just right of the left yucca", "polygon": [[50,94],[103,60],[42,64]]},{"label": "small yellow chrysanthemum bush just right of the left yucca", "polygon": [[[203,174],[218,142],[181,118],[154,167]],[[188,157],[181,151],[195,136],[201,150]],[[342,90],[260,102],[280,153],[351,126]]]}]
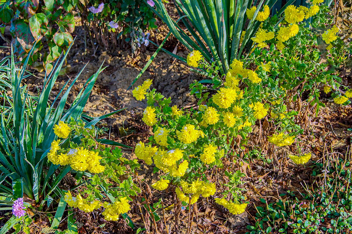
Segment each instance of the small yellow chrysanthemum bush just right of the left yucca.
[{"label": "small yellow chrysanthemum bush just right of the left yucca", "polygon": [[[86,185],[80,191],[65,193],[67,204],[83,212],[104,207],[102,215],[106,220],[118,220],[120,214],[128,212],[132,201],[129,196],[140,193],[131,176],[140,166],[137,160],[127,160],[122,157],[121,149],[111,149],[97,142],[93,137],[95,130],[85,128],[82,121],[60,121],[54,126],[54,132],[58,139],[51,143],[48,160],[57,165],[69,165],[72,170],[86,175],[82,178]],[[121,176],[126,179],[121,180]]]}]

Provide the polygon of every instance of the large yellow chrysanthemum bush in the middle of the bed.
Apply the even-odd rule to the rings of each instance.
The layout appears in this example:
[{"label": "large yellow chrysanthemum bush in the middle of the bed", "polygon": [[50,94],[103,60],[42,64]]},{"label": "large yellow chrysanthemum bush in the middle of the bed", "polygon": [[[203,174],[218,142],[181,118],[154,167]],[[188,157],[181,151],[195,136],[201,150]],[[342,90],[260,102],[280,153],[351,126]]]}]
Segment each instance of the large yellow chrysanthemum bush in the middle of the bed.
[{"label": "large yellow chrysanthemum bush in the middle of the bed", "polygon": [[[142,120],[152,126],[154,134],[149,143],[139,142],[134,152],[159,171],[160,180],[152,184],[153,188],[174,189],[180,201],[190,204],[200,197],[216,195],[215,201],[232,214],[242,213],[247,203],[238,188],[240,179],[231,180],[234,181],[231,186],[215,183],[215,172],[224,170],[229,178],[243,176],[239,171],[228,169],[224,162],[238,162],[241,166],[241,147],[249,140],[253,125],[263,119],[276,126],[270,131],[269,142],[278,147],[293,144],[300,132],[293,121],[297,112],[286,111],[280,102],[268,101],[272,91],[262,85],[268,79],[265,65],[252,70],[235,59],[227,76],[219,77],[218,68],[208,64],[199,52],[190,53],[187,61],[215,76],[212,94],[202,93],[201,84],[192,84],[192,93],[197,93],[203,103],[180,110],[170,106],[170,98],[150,90],[150,80],[136,87],[133,96],[137,100],[146,99],[148,104]],[[299,159],[301,155],[296,157]],[[304,160],[294,158],[294,161],[303,163]]]}]

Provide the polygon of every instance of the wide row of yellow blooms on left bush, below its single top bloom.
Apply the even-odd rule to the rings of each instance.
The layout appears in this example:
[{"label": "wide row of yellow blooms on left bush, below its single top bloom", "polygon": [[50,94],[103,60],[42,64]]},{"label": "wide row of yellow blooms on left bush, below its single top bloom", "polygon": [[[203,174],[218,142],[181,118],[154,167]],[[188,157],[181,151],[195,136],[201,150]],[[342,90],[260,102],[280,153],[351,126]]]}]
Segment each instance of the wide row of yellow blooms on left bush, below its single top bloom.
[{"label": "wide row of yellow blooms on left bush, below its single top bloom", "polygon": [[53,141],[51,143],[50,151],[48,153],[48,160],[55,165],[71,165],[71,168],[76,171],[88,170],[91,173],[102,173],[105,167],[100,164],[101,157],[98,152],[89,151],[87,149],[77,148],[71,149],[67,153],[60,153],[60,141]]}]

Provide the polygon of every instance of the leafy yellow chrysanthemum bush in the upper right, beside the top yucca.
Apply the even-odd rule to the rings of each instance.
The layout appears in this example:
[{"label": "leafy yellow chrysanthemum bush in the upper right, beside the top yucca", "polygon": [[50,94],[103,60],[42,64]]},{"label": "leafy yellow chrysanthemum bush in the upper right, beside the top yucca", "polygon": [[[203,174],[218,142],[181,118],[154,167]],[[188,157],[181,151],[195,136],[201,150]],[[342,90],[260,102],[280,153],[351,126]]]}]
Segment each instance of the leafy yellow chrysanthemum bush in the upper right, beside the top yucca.
[{"label": "leafy yellow chrysanthemum bush in the upper right, beside the top yucca", "polygon": [[[313,1],[314,3],[319,2]],[[313,5],[309,9],[314,6],[318,7]],[[264,21],[253,38],[258,43],[257,47],[249,54],[245,63],[255,66],[265,64],[270,73],[263,85],[278,89],[275,94],[277,98],[287,95],[286,100],[290,102],[307,93],[306,100],[315,105],[318,112],[319,107],[324,106],[320,101],[322,92],[333,91],[331,96],[337,104],[350,103],[348,98],[351,98],[352,91],[343,85],[337,70],[350,56],[352,48],[338,37],[338,28],[335,25],[331,27],[332,20],[327,6],[321,5],[314,10],[318,13],[313,15],[311,23],[302,22],[307,15],[311,15],[308,13],[309,9],[307,11],[304,7],[288,6],[276,39],[272,30],[280,22],[279,19],[271,17]],[[306,17],[303,17],[304,12]],[[293,25],[295,30],[291,33],[290,28]],[[326,27],[331,28],[326,30]],[[321,33],[322,30],[325,31]],[[283,40],[284,37],[287,38]],[[326,50],[322,49],[325,46]]]}]

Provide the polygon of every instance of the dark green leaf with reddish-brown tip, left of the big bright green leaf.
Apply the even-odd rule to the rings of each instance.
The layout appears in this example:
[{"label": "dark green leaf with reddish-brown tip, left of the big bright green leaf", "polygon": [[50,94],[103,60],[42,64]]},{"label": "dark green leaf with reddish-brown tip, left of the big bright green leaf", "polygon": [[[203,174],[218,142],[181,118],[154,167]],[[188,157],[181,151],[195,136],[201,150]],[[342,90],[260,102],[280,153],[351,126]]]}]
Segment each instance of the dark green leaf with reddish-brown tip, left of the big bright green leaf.
[{"label": "dark green leaf with reddish-brown tip, left of the big bright green leaf", "polygon": [[34,42],[31,29],[23,19],[16,20],[15,22],[15,35],[18,42],[21,44],[24,51],[27,53],[31,50]]}]

